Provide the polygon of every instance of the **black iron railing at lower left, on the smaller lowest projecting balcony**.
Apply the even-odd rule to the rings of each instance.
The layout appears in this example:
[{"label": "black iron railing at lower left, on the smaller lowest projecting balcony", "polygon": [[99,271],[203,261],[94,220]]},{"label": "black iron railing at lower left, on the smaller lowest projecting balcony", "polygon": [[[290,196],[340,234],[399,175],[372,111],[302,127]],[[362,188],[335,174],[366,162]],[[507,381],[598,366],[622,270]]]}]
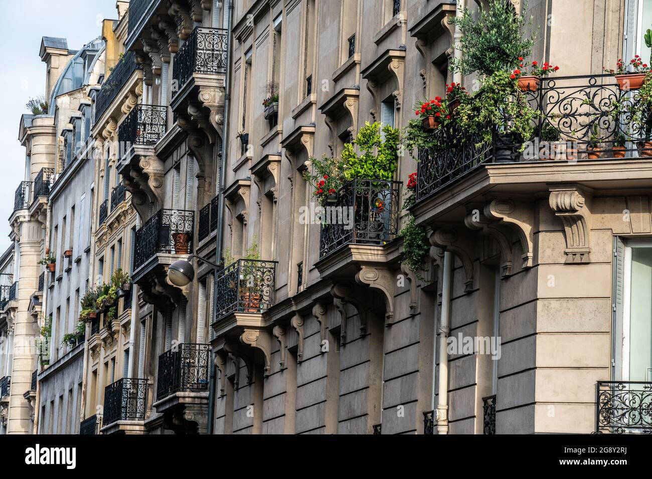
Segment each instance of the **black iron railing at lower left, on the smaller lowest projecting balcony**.
[{"label": "black iron railing at lower left, on the smaller lowest projecting balcony", "polygon": [[124,377],[104,389],[104,426],[142,421],[147,407],[147,379]]}]

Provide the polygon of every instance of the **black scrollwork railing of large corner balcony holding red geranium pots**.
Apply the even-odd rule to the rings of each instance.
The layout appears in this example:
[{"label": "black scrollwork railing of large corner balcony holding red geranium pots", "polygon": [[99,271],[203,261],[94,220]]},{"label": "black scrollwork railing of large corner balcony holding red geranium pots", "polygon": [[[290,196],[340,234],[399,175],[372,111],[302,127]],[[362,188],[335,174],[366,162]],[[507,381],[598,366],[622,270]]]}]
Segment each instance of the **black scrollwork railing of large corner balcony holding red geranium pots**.
[{"label": "black scrollwork railing of large corner balcony holding red geranium pots", "polygon": [[[486,163],[652,156],[652,113],[643,106],[640,115],[618,113],[616,104],[636,110],[642,99],[621,92],[611,75],[541,78],[539,89],[525,94],[540,113],[533,138],[516,141],[488,126],[486,141],[454,126],[437,128],[432,133],[437,146],[419,152],[417,202]],[[559,141],[544,141],[551,130]]]}]

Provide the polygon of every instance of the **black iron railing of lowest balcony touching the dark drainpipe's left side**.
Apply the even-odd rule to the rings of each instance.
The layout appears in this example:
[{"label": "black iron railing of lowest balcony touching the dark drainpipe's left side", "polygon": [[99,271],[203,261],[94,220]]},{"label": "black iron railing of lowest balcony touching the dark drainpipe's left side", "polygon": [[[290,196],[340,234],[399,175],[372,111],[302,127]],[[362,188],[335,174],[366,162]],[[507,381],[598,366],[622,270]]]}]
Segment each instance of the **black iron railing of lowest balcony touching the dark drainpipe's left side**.
[{"label": "black iron railing of lowest balcony touching the dark drainpipe's left side", "polygon": [[156,400],[175,392],[208,390],[209,345],[182,343],[158,356]]}]

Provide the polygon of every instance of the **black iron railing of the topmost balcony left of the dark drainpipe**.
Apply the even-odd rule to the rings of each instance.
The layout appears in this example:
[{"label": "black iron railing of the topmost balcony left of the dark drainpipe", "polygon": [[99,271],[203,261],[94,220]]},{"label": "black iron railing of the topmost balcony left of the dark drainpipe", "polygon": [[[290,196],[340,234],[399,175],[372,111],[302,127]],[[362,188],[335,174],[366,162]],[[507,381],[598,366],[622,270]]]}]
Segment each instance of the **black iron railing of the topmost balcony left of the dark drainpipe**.
[{"label": "black iron railing of the topmost balcony left of the dark drainpipe", "polygon": [[172,78],[179,93],[193,73],[226,73],[228,32],[222,28],[195,27],[174,55]]}]

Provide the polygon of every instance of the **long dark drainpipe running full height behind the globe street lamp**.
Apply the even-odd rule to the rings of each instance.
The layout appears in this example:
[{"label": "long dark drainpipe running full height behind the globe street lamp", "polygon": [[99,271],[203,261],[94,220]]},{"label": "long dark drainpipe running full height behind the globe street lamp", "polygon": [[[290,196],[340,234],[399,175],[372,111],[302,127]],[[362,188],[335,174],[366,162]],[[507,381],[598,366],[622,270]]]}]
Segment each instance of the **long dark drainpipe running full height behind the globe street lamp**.
[{"label": "long dark drainpipe running full height behind the globe street lamp", "polygon": [[[226,182],[226,158],[229,156],[229,110],[231,106],[231,29],[233,24],[233,0],[229,0],[229,7],[226,12],[226,78],[224,85],[224,129],[222,138],[222,158],[220,158],[220,180],[217,186],[218,197],[218,219],[217,233],[215,237],[215,263],[222,263],[222,235],[224,235],[224,183]],[[213,278],[213,302],[217,296],[217,283]],[[211,318],[215,319],[215,308],[211,311]],[[212,321],[211,321],[212,322]],[[211,364],[209,364],[209,384],[208,384],[208,420],[206,424],[206,433],[213,434],[213,423],[215,422],[215,394],[217,377],[215,372],[215,351],[211,355]]]}]

